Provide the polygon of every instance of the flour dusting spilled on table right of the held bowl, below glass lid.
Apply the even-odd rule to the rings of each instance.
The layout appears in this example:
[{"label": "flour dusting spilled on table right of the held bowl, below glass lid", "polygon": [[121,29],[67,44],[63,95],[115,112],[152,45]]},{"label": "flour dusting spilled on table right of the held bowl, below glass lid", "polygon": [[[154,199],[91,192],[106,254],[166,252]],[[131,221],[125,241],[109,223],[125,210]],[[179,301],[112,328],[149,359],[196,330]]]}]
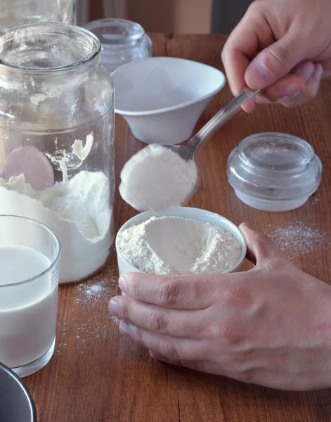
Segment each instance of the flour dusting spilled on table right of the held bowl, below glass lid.
[{"label": "flour dusting spilled on table right of the held bowl, below glass lid", "polygon": [[[269,224],[269,227],[271,225]],[[303,222],[291,222],[286,227],[279,227],[266,233],[278,245],[289,260],[312,252],[324,245],[327,232],[320,231],[313,226],[306,226]],[[329,243],[327,244],[327,248]]]}]

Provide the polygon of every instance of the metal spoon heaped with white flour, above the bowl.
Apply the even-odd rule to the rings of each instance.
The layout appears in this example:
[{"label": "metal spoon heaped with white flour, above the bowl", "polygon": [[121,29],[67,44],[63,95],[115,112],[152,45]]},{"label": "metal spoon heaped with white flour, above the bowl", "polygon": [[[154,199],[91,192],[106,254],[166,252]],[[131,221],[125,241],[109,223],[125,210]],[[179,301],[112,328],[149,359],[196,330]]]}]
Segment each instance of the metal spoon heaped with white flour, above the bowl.
[{"label": "metal spoon heaped with white flour, above the bowl", "polygon": [[134,155],[121,174],[119,192],[126,203],[138,211],[159,210],[182,205],[193,196],[199,180],[195,151],[257,94],[259,91],[242,89],[185,145],[151,143]]}]

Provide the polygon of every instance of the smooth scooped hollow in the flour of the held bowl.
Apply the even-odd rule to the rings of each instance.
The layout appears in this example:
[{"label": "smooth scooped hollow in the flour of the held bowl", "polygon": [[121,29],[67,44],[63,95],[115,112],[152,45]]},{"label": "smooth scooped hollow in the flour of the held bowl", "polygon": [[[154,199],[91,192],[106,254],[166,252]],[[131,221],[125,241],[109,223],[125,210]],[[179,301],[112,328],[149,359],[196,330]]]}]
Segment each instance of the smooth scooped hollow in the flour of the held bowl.
[{"label": "smooth scooped hollow in the flour of the held bowl", "polygon": [[[181,274],[189,272],[202,255],[207,238],[202,223],[180,217],[152,220],[146,226],[145,234],[156,255]],[[194,244],[199,246],[192,248]]]}]

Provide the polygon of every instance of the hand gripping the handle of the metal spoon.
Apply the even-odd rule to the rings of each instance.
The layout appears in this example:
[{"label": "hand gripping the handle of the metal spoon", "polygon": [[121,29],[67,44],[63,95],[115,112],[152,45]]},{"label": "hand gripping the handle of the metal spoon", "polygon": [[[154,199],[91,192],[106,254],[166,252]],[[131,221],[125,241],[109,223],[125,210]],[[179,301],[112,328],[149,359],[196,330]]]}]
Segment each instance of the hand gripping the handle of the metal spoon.
[{"label": "hand gripping the handle of the metal spoon", "polygon": [[[266,89],[260,103],[297,106],[331,75],[330,0],[256,0],[231,33],[222,60],[233,94]],[[254,100],[245,105],[254,107]]]}]

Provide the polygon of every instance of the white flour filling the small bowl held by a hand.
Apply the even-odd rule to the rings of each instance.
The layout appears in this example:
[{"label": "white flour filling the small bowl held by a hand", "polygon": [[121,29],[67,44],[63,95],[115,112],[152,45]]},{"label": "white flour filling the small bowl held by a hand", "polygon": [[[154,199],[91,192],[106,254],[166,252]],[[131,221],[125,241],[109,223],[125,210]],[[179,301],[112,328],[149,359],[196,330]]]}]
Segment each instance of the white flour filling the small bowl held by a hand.
[{"label": "white flour filling the small bowl held by a hand", "polygon": [[118,252],[148,274],[215,274],[238,262],[241,246],[209,223],[152,217],[119,233]]}]

